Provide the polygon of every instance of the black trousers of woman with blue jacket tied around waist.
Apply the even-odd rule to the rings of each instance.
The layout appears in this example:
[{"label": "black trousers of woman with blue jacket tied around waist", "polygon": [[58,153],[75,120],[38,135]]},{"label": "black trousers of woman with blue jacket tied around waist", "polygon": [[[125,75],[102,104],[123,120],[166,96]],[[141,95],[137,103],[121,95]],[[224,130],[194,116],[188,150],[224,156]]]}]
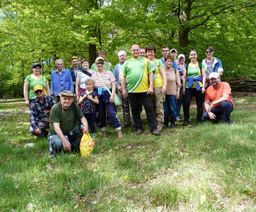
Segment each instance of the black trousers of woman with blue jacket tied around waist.
[{"label": "black trousers of woman with blue jacket tied around waist", "polygon": [[191,104],[192,96],[195,96],[195,102],[197,104],[197,122],[201,121],[203,116],[203,94],[201,91],[197,91],[196,88],[185,88],[183,111],[184,121],[189,121],[189,107]]}]

